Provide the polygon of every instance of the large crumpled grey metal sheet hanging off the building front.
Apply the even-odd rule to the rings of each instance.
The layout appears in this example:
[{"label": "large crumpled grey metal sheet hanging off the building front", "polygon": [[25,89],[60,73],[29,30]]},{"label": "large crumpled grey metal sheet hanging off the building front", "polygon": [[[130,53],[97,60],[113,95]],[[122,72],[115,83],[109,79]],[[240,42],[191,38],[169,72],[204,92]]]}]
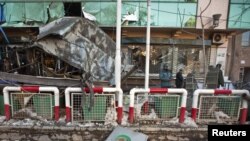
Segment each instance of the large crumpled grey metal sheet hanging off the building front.
[{"label": "large crumpled grey metal sheet hanging off the building front", "polygon": [[[70,65],[90,72],[96,81],[114,83],[115,42],[90,21],[65,17],[40,28],[35,46]],[[122,59],[125,55],[122,53]],[[131,65],[123,63],[122,70]]]}]

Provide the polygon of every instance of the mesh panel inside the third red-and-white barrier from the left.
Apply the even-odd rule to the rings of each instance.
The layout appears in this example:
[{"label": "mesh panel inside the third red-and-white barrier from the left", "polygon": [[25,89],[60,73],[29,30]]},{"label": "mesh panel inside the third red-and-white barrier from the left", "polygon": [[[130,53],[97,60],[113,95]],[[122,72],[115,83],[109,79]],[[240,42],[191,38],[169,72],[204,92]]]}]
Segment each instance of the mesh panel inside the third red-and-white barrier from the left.
[{"label": "mesh panel inside the third red-and-white barrier from the left", "polygon": [[180,95],[149,95],[145,102],[144,95],[137,95],[135,117],[145,120],[165,120],[178,117]]}]

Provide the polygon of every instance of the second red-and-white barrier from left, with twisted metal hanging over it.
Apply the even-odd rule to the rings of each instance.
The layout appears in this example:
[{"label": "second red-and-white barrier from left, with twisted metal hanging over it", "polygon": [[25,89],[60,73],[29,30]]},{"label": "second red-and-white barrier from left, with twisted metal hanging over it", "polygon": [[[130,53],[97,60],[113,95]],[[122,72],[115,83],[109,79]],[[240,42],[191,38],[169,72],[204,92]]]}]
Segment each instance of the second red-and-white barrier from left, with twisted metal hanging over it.
[{"label": "second red-and-white barrier from left, with twisted metal hanging over it", "polygon": [[[86,96],[89,95],[89,89],[84,88]],[[87,103],[82,104],[82,89],[68,87],[65,89],[65,105],[66,105],[66,122],[70,121],[103,121],[107,113],[108,108],[114,108],[115,106],[115,96],[118,93],[118,107],[116,107],[117,112],[117,122],[120,123],[122,120],[122,90],[117,88],[103,88],[95,87],[93,88],[94,101],[97,105],[94,105],[91,110],[86,107]]]}]

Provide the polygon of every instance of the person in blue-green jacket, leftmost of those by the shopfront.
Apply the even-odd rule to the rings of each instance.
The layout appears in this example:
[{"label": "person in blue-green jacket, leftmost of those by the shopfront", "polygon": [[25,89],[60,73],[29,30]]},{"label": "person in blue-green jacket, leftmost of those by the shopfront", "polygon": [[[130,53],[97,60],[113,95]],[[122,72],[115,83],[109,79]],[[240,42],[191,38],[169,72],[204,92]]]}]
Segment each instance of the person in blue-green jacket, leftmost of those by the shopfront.
[{"label": "person in blue-green jacket, leftmost of those by the shopfront", "polygon": [[160,80],[162,88],[171,88],[172,73],[165,64],[162,71],[160,72]]}]

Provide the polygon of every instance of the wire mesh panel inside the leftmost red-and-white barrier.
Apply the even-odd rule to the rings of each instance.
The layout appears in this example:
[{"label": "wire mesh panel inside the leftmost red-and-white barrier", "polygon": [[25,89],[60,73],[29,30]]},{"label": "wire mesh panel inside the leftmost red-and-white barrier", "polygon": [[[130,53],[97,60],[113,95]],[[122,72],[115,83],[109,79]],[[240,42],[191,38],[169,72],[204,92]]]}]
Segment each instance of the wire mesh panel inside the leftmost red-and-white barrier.
[{"label": "wire mesh panel inside the leftmost red-and-white barrier", "polygon": [[11,113],[13,118],[52,119],[54,97],[49,93],[11,93]]}]

